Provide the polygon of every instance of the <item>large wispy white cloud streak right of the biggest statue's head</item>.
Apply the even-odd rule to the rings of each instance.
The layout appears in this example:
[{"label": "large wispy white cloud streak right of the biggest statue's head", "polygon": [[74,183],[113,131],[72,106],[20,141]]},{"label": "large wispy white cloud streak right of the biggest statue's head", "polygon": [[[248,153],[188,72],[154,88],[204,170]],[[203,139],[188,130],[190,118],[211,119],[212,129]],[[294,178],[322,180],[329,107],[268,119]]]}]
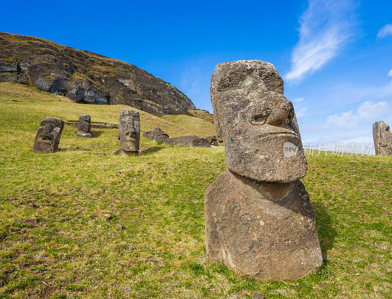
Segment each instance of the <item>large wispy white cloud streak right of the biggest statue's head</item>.
[{"label": "large wispy white cloud streak right of the biggest statue's head", "polygon": [[301,80],[338,55],[355,26],[355,0],[309,0],[299,19],[299,41],[285,78]]}]

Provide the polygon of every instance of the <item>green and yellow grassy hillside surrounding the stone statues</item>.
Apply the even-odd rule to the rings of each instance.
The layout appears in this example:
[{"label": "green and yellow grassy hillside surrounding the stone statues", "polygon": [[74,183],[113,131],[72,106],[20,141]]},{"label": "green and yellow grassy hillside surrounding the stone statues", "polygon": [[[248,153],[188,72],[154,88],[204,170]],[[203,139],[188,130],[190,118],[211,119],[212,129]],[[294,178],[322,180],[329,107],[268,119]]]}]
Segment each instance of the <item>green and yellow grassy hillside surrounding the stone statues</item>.
[{"label": "green and yellow grassy hillside surrounding the stone statues", "polygon": [[[115,123],[123,107],[12,90],[24,92],[0,85],[0,298],[391,297],[392,158],[308,157],[302,181],[324,264],[297,281],[260,282],[205,255],[203,197],[225,169],[223,147],[141,138],[140,157],[121,158],[112,156],[117,130],[82,139],[66,126],[60,152],[34,154],[44,116],[88,113]],[[180,130],[168,119],[143,112],[141,119],[145,130]]]}]

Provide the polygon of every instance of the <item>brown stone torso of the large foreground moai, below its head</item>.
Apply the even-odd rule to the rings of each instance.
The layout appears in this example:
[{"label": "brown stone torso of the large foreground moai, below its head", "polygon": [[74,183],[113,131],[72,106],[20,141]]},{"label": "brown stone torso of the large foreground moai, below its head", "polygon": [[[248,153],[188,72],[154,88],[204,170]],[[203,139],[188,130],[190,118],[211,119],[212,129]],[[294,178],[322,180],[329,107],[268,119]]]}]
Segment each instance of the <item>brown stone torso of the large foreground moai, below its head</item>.
[{"label": "brown stone torso of the large foreground moai, below its head", "polygon": [[251,180],[224,171],[204,199],[212,262],[258,279],[297,279],[322,264],[315,217],[304,185]]}]

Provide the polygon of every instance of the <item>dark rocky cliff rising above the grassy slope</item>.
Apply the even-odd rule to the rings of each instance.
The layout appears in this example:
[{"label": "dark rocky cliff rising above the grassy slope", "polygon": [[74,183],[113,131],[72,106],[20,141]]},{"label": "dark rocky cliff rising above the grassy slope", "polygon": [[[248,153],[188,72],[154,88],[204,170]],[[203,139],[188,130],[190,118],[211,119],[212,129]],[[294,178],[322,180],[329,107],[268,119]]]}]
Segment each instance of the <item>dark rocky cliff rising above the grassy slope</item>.
[{"label": "dark rocky cliff rising above the grassy slope", "polygon": [[187,114],[192,101],[143,69],[86,50],[0,33],[0,82],[13,81],[76,103],[123,104],[154,115]]}]

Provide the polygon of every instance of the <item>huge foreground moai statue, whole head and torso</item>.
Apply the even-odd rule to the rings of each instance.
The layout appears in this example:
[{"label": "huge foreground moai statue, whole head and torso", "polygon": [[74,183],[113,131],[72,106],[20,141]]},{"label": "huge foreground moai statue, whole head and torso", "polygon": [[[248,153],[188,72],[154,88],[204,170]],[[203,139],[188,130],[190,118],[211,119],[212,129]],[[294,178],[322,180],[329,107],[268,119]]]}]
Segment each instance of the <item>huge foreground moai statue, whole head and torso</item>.
[{"label": "huge foreground moai statue, whole head and torso", "polygon": [[282,78],[268,62],[221,63],[211,95],[227,170],[205,192],[210,260],[263,280],[316,272],[319,237],[299,181],[307,162]]}]

